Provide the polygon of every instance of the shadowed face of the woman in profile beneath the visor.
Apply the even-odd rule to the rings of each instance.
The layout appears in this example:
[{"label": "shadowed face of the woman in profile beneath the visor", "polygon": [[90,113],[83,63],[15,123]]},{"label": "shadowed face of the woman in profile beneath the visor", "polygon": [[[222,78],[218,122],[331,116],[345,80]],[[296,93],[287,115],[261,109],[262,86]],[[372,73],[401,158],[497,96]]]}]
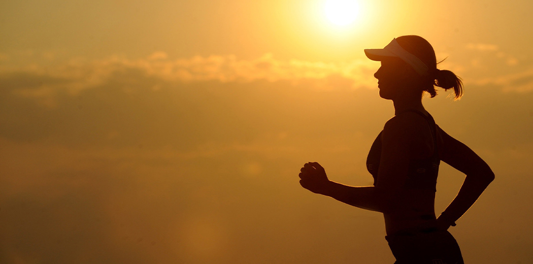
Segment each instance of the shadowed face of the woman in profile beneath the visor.
[{"label": "shadowed face of the woman in profile beneath the visor", "polygon": [[374,74],[381,98],[393,100],[407,92],[405,90],[409,85],[406,85],[406,81],[410,77],[407,66],[399,58],[391,57],[381,61],[381,67]]}]

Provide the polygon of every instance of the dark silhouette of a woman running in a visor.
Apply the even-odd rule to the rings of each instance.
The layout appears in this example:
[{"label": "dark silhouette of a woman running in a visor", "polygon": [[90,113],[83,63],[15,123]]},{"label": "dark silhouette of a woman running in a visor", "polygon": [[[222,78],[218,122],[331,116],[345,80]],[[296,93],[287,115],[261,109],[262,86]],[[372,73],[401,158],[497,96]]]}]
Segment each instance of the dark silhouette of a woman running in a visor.
[{"label": "dark silhouette of a woman running in a visor", "polygon": [[[494,180],[490,167],[469,147],[444,132],[422,105],[422,95],[434,97],[434,85],[454,89],[463,85],[454,73],[437,69],[433,47],[419,36],[401,36],[384,49],[365,50],[381,61],[374,77],[379,96],[392,100],[395,115],[385,123],[367,158],[374,186],[352,187],[328,180],[316,162],[306,163],[300,184],[313,193],[346,204],[382,212],[385,239],[395,264],[461,264],[455,238],[448,232]],[[446,210],[435,217],[435,186],[440,161],[466,174],[463,186]]]}]

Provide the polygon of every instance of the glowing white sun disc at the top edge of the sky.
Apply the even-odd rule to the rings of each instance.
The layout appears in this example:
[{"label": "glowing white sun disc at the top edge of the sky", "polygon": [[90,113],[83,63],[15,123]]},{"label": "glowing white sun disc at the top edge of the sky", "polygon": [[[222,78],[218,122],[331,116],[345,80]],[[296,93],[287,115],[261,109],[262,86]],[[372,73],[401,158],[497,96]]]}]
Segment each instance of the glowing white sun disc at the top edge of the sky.
[{"label": "glowing white sun disc at the top edge of the sky", "polygon": [[334,25],[348,26],[356,21],[359,5],[353,0],[328,0],[324,4],[324,13]]}]

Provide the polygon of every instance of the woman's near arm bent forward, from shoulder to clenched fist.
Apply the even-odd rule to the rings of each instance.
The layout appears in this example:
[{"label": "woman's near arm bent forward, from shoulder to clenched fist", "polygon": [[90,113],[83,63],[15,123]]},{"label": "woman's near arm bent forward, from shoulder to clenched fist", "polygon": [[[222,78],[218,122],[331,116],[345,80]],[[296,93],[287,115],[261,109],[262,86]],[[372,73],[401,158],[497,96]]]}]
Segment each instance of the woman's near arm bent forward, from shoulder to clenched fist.
[{"label": "woman's near arm bent forward, from shoulder to clenched fist", "polygon": [[[389,212],[394,207],[403,182],[407,179],[409,145],[417,138],[417,116],[394,117],[382,133],[382,156],[376,186],[353,187],[329,181],[324,168],[316,162],[301,169],[300,184],[305,189],[332,197],[343,203],[377,212]],[[425,125],[424,123],[422,123]],[[426,125],[427,126],[427,125]]]}]

